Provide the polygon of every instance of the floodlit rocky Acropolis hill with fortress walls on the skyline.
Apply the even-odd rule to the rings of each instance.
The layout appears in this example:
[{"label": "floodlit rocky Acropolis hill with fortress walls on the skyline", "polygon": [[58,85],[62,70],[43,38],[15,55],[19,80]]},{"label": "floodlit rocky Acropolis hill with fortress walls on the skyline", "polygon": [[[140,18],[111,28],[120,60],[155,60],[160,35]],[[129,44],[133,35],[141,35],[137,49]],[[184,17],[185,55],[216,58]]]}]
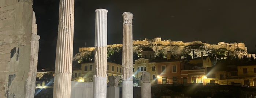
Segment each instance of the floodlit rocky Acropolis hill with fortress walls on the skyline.
[{"label": "floodlit rocky Acropolis hill with fortress walls on the skyline", "polygon": [[[113,47],[122,47],[122,44],[108,45],[108,48]],[[247,47],[245,47],[244,43],[237,42],[231,44],[225,42],[219,42],[218,44],[207,44],[201,41],[162,41],[160,37],[156,37],[154,39],[145,38],[144,40],[133,41],[133,52],[139,53],[145,47],[152,48],[156,52],[156,55],[159,55],[159,53],[167,54],[167,51],[171,51],[171,54],[174,56],[183,56],[185,54],[192,56],[194,50],[194,54],[196,54],[198,57],[201,56],[201,52],[203,52],[204,56],[208,56],[209,53],[212,53],[224,56],[238,56],[239,58],[242,56],[251,57],[251,55],[254,55],[255,57],[255,54],[249,54],[247,52]],[[92,51],[94,48],[79,48],[79,52],[82,52],[83,50]]]}]

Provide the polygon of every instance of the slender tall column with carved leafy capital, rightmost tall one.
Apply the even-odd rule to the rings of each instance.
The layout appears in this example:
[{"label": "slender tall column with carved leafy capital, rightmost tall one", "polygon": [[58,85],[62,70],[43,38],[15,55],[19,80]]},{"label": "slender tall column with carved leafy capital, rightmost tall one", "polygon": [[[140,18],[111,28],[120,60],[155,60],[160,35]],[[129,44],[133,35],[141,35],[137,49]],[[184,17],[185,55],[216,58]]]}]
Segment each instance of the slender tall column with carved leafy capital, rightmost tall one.
[{"label": "slender tall column with carved leafy capital, rightmost tall one", "polygon": [[123,13],[122,98],[133,98],[133,14]]}]

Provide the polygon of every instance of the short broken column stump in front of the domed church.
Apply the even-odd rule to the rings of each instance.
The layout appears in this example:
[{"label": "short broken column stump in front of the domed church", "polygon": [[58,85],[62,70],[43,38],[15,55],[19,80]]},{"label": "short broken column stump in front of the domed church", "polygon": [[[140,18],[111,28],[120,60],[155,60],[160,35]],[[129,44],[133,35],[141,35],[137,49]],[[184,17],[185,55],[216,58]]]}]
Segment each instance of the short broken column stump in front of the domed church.
[{"label": "short broken column stump in front of the domed church", "polygon": [[150,73],[142,72],[141,98],[151,98]]}]

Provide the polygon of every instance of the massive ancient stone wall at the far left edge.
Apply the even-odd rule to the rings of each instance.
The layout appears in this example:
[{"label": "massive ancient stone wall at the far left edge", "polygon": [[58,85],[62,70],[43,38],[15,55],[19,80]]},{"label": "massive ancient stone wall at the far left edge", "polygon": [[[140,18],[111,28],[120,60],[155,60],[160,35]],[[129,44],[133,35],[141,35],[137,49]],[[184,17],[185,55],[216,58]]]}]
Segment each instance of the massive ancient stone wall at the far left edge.
[{"label": "massive ancient stone wall at the far left edge", "polygon": [[38,57],[32,0],[0,0],[0,98],[33,98]]}]

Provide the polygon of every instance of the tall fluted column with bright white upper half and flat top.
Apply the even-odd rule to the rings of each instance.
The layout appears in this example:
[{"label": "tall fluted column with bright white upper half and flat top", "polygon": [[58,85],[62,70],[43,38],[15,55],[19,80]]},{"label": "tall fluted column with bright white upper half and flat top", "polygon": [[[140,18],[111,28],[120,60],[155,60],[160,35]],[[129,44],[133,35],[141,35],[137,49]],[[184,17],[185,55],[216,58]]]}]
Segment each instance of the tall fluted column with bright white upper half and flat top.
[{"label": "tall fluted column with bright white upper half and flat top", "polygon": [[95,10],[95,56],[93,75],[93,98],[107,97],[107,13]]}]

